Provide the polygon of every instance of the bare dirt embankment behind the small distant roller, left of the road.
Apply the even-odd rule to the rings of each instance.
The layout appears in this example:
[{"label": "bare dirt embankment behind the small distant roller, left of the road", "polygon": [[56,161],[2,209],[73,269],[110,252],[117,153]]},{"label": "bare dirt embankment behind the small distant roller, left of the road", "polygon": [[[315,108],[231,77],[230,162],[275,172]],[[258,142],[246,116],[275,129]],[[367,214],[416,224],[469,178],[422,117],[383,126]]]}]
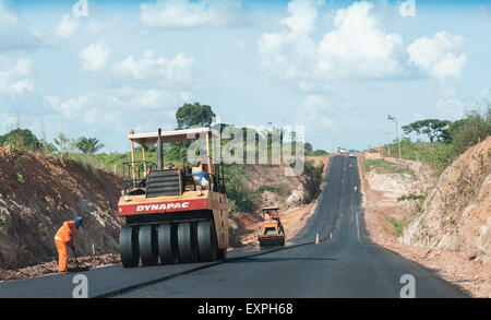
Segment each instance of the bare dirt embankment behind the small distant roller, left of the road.
[{"label": "bare dirt embankment behind the small distant roller, left of the road", "polygon": [[[327,171],[330,156],[306,157],[306,161],[314,161],[315,166],[322,166],[323,181]],[[294,238],[306,225],[309,217],[314,213],[318,205],[318,195],[323,185],[316,187],[314,199],[308,201],[306,192],[311,188],[311,178],[306,174],[299,177],[288,177],[280,166],[254,166],[247,170],[246,185],[252,190],[261,190],[261,198],[258,199],[259,209],[277,205],[282,224],[285,227],[286,240]],[[308,186],[306,188],[306,186]],[[263,223],[264,217],[260,210],[235,214],[230,220],[232,233],[237,236],[236,247],[258,247],[258,228]]]}]

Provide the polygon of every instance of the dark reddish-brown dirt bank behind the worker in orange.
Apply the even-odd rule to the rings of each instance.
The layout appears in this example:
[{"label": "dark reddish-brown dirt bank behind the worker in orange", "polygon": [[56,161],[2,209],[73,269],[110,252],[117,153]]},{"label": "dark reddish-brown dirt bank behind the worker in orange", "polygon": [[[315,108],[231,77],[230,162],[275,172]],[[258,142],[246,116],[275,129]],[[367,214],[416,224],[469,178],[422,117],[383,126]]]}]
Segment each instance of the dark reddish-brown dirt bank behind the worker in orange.
[{"label": "dark reddish-brown dirt bank behind the worker in orange", "polygon": [[[0,268],[53,261],[53,237],[80,215],[77,256],[116,253],[121,179],[53,156],[0,147]],[[70,252],[72,254],[72,252]]]}]

